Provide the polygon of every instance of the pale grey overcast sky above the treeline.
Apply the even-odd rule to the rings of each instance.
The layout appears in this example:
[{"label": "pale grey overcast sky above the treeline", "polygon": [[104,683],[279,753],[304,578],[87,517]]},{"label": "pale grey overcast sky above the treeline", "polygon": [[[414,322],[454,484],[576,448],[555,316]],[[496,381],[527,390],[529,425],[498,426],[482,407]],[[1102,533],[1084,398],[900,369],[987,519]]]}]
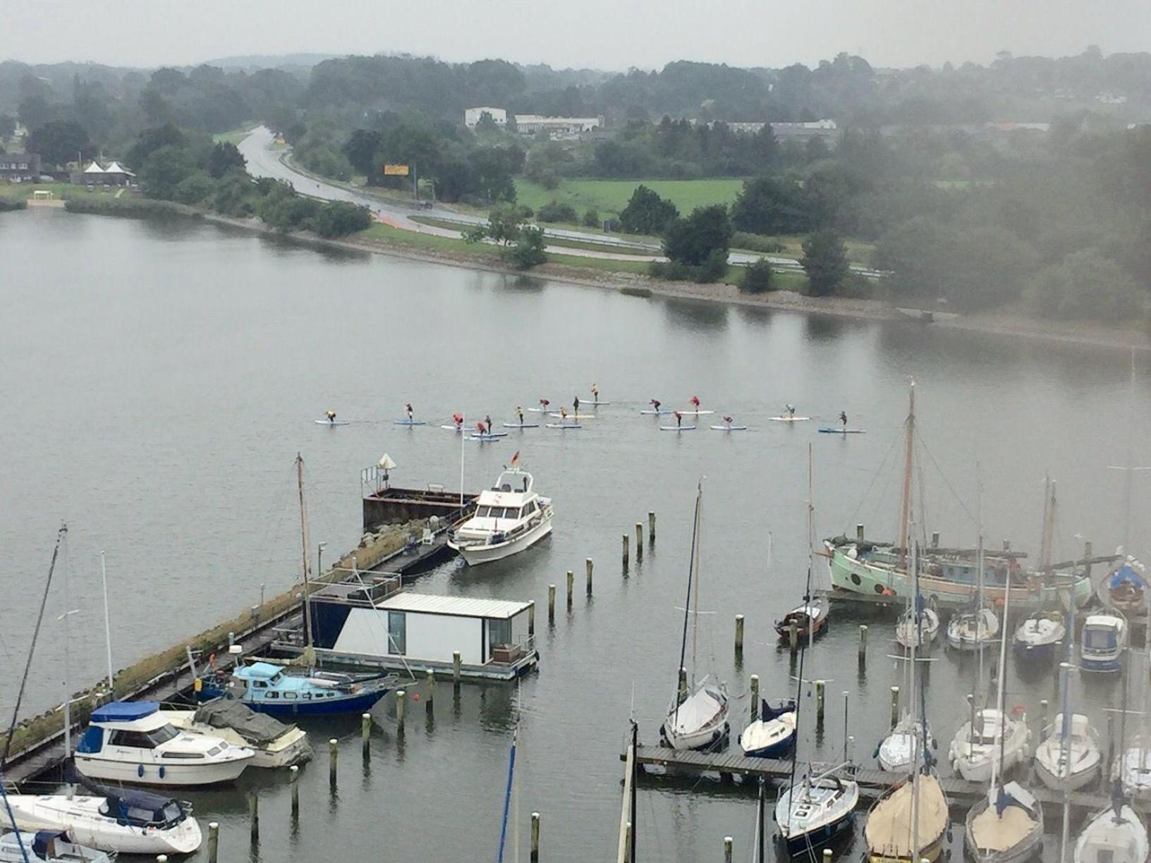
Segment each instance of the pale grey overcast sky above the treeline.
[{"label": "pale grey overcast sky above the treeline", "polygon": [[555,67],[879,66],[1151,49],[1151,0],[0,0],[0,60],[397,53]]}]

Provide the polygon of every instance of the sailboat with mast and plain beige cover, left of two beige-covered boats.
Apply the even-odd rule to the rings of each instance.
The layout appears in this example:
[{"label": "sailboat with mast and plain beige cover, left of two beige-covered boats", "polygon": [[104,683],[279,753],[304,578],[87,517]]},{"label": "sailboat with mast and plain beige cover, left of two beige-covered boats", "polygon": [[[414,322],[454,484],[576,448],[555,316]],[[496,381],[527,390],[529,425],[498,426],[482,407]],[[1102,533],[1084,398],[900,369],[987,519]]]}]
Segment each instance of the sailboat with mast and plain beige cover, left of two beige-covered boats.
[{"label": "sailboat with mast and plain beige cover, left of two beige-covered boats", "polygon": [[[917,568],[915,562],[913,571]],[[913,573],[914,574],[914,573]],[[927,723],[921,723],[923,688],[918,686],[915,643],[909,648],[912,713],[909,726],[921,728],[907,777],[893,785],[875,802],[863,825],[870,863],[921,863],[936,861],[943,850],[947,831],[947,796],[935,772],[935,758],[928,746]]]}]

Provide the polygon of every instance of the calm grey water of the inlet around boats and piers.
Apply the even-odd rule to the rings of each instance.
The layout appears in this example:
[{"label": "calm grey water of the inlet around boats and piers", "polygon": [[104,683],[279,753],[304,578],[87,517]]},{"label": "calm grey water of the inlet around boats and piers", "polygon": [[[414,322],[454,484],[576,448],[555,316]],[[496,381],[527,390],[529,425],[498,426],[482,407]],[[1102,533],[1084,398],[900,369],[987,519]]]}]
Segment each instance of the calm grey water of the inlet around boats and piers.
[{"label": "calm grey water of the inlet around boats and piers", "polygon": [[[814,446],[817,534],[894,535],[900,426],[917,381],[929,528],[971,543],[976,480],[986,534],[1038,544],[1043,478],[1058,482],[1057,553],[1083,539],[1122,541],[1128,358],[1119,352],[981,337],[916,324],[809,318],[761,310],[645,300],[381,257],[327,254],[191,222],[136,222],[28,212],[0,216],[0,708],[12,710],[54,533],[70,526],[24,713],[64,692],[63,624],[71,618],[75,687],[104,667],[99,551],[107,550],[116,667],[198,632],[297,576],[292,460],[307,464],[312,536],[327,556],[355,544],[359,471],[388,452],[395,481],[458,487],[459,441],[439,428],[453,411],[510,420],[517,404],[588,396],[615,404],[581,432],[535,429],[466,449],[467,486],[490,481],[519,450],[538,488],[555,497],[554,537],[513,562],[474,571],[445,565],[418,585],[434,593],[534,598],[539,674],[519,697],[520,838],[543,816],[546,860],[613,853],[622,767],[634,704],[654,742],[674,687],[691,506],[706,475],[700,670],[729,683],[735,725],[749,710],[747,677],[787,693],[788,659],[770,625],[801,591],[806,571],[807,449]],[[1149,408],[1141,359],[1136,415]],[[637,411],[648,398],[733,414],[750,429],[662,434]],[[401,429],[405,402],[433,425]],[[786,402],[814,420],[846,410],[868,430],[849,440],[768,418]],[[355,420],[322,428],[331,407]],[[706,423],[701,423],[706,425]],[[1136,464],[1148,464],[1137,429]],[[976,466],[980,466],[976,469]],[[1146,551],[1146,474],[1136,474],[1133,545]],[[953,494],[954,492],[954,494]],[[648,510],[658,542],[620,578],[619,537]],[[582,559],[596,560],[595,596]],[[577,598],[563,610],[565,570]],[[67,575],[67,579],[63,576]],[[559,585],[547,625],[548,583]],[[67,593],[70,597],[66,597]],[[747,617],[741,665],[732,618]],[[855,669],[857,619],[846,613],[810,654],[826,678],[825,739],[805,755],[834,757],[839,693],[851,690],[855,754],[869,761],[901,672],[872,626],[870,662]],[[940,748],[962,720],[973,664],[940,651],[929,711]],[[1009,678],[1008,703],[1037,709],[1050,679]],[[1116,696],[1091,683],[1090,709]],[[495,855],[517,692],[441,687],[434,721],[411,705],[405,739],[394,703],[371,771],[358,721],[318,726],[305,770],[304,816],[288,824],[282,777],[245,777],[235,791],[192,794],[223,824],[226,858],[247,854],[243,792],[261,797],[266,861],[318,860],[334,843],[348,860],[465,860]],[[810,727],[811,723],[807,723]],[[338,800],[329,800],[322,741],[344,738]],[[870,762],[869,762],[870,763]],[[944,766],[944,771],[947,767]],[[719,858],[733,835],[746,858],[754,807],[708,781],[647,784],[640,796],[645,858]],[[960,839],[956,833],[956,840]],[[1052,843],[1049,843],[1051,846]],[[856,845],[856,850],[859,849]],[[1049,848],[1049,851],[1051,848]],[[525,854],[526,860],[526,854]]]}]

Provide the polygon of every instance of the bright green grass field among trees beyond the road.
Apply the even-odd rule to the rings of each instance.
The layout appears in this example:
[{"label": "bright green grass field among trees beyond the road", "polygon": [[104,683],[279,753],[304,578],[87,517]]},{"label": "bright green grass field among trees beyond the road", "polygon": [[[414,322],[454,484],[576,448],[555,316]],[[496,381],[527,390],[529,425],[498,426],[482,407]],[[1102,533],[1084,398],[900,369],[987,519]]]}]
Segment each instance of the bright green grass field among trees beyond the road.
[{"label": "bright green grass field among trees beyond the road", "polygon": [[712,180],[562,180],[556,189],[544,189],[538,183],[516,180],[518,204],[539,209],[548,201],[570,204],[584,215],[586,209],[597,209],[601,216],[619,215],[635,186],[646,185],[661,198],[670,199],[680,213],[691,213],[708,204],[731,204],[744,188],[742,180],[716,177]]}]

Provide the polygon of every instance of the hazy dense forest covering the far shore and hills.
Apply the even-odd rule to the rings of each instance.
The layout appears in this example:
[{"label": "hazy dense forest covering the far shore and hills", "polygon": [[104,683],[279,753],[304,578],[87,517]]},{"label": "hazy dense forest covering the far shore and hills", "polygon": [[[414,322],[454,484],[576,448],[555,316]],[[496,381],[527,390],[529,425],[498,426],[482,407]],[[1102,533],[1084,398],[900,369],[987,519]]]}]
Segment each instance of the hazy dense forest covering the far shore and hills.
[{"label": "hazy dense forest covering the far shore and hills", "polygon": [[[474,105],[597,115],[605,129],[585,140],[493,123],[473,132],[462,115]],[[836,135],[777,139],[770,127],[734,125],[817,119],[834,120]],[[30,129],[25,145],[49,162],[100,152],[151,160],[132,167],[177,200],[239,194],[209,161],[208,136],[254,122],[282,132],[318,173],[384,184],[381,162],[410,162],[439,199],[479,206],[514,203],[517,178],[555,189],[578,177],[735,177],[738,198],[694,221],[637,191],[619,227],[663,237],[669,254],[686,250],[670,275],[709,277],[715,266],[703,265],[718,260],[709,250],[770,251],[776,238],[801,235],[813,291],[1116,322],[1145,320],[1151,307],[1148,119],[1151,54],[1093,47],[900,70],[846,54],[816,68],[674,62],[623,74],[411,56],[152,71],[0,63],[0,140],[18,121]],[[990,121],[1004,125],[992,133]],[[182,175],[162,169],[173,151],[140,148],[158,130],[183,136]],[[234,209],[289,224],[315,217],[303,212],[311,205],[289,207],[270,191],[239,196],[246,203]],[[597,214],[557,205],[544,215]],[[863,262],[889,275],[878,284],[852,277],[839,265],[845,240],[866,245]]]}]

